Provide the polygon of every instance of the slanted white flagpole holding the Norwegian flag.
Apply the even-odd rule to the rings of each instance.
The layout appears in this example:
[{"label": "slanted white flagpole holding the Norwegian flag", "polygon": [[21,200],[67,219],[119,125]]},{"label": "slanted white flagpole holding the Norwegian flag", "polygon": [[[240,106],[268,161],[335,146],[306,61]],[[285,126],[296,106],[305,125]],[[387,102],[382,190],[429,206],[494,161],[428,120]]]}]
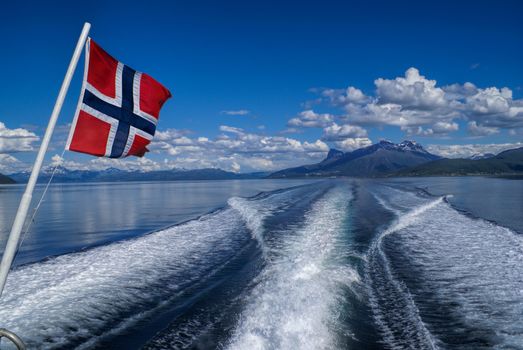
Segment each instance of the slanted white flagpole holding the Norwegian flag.
[{"label": "slanted white flagpole holding the Norwegian flag", "polygon": [[76,69],[76,64],[78,63],[80,55],[82,54],[82,49],[85,44],[85,41],[87,40],[89,29],[91,29],[91,24],[86,22],[82,29],[82,33],[80,34],[80,38],[78,39],[78,43],[76,44],[73,58],[69,63],[69,68],[67,68],[67,73],[65,74],[62,87],[60,88],[60,93],[58,94],[58,98],[56,99],[56,103],[53,108],[53,113],[51,113],[51,118],[49,119],[49,124],[47,125],[47,130],[45,131],[45,135],[42,140],[42,145],[38,150],[38,155],[36,156],[36,161],[33,166],[33,170],[31,171],[31,176],[29,177],[29,181],[27,182],[24,195],[22,196],[22,200],[20,201],[20,205],[18,207],[15,221],[13,222],[13,227],[11,228],[9,239],[7,240],[4,255],[2,256],[2,263],[0,265],[0,296],[4,291],[5,283],[7,280],[7,274],[11,269],[13,258],[18,249],[20,233],[22,232],[22,228],[25,223],[25,218],[27,216],[27,211],[29,210],[29,205],[31,204],[33,190],[36,185],[36,180],[38,179],[40,169],[42,168],[45,152],[47,151],[47,147],[49,146],[49,142],[51,141],[51,136],[53,135],[58,115],[60,114],[60,110],[62,109],[62,105],[64,103],[65,95],[67,94],[69,84],[71,83],[71,79],[73,78],[73,74]]}]

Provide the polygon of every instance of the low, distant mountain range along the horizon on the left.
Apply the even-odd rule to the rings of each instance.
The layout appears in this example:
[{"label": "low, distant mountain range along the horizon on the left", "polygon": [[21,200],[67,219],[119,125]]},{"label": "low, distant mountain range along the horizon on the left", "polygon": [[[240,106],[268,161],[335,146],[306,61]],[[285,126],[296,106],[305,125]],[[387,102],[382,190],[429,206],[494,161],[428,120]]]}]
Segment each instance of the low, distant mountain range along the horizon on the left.
[{"label": "low, distant mountain range along the horizon on the left", "polygon": [[[47,182],[52,174],[52,168],[47,168],[40,174],[38,182]],[[27,182],[29,173],[12,174],[17,182]],[[259,179],[267,173],[237,174],[221,169],[197,170],[161,170],[161,171],[126,171],[109,168],[102,171],[69,170],[64,167],[56,169],[53,182],[123,182],[123,181],[176,181],[176,180],[234,180],[234,179]]]}]

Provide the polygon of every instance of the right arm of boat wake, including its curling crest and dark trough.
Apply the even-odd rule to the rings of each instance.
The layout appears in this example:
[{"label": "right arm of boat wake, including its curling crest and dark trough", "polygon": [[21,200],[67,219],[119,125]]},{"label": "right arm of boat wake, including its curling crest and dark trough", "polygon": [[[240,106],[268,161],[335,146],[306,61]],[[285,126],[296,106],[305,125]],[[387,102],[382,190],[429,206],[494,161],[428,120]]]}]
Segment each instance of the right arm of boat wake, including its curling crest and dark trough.
[{"label": "right arm of boat wake, including its curling crest and dark trough", "polygon": [[386,347],[521,348],[522,237],[444,197],[380,191],[396,219],[369,248],[365,280]]}]

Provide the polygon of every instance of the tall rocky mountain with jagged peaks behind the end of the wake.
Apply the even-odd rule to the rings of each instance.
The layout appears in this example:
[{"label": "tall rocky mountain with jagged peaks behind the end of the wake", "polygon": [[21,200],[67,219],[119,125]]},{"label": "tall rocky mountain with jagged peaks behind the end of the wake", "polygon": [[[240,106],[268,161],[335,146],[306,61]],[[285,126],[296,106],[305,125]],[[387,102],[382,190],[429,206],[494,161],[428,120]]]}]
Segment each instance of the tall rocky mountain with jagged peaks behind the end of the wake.
[{"label": "tall rocky mountain with jagged peaks behind the end of the wake", "polygon": [[347,153],[330,150],[327,158],[320,163],[284,169],[272,173],[269,177],[377,177],[436,159],[440,157],[427,152],[415,141],[403,141],[399,144],[380,141]]}]

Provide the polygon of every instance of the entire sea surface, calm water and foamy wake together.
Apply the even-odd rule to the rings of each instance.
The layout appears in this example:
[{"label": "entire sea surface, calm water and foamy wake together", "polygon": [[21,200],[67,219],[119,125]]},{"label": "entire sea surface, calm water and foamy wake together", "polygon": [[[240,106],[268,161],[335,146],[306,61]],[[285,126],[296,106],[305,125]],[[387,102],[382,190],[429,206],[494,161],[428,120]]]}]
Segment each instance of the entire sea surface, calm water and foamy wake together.
[{"label": "entire sea surface, calm water and foamy wake together", "polygon": [[55,185],[0,326],[30,348],[523,349],[521,213],[506,179]]}]

